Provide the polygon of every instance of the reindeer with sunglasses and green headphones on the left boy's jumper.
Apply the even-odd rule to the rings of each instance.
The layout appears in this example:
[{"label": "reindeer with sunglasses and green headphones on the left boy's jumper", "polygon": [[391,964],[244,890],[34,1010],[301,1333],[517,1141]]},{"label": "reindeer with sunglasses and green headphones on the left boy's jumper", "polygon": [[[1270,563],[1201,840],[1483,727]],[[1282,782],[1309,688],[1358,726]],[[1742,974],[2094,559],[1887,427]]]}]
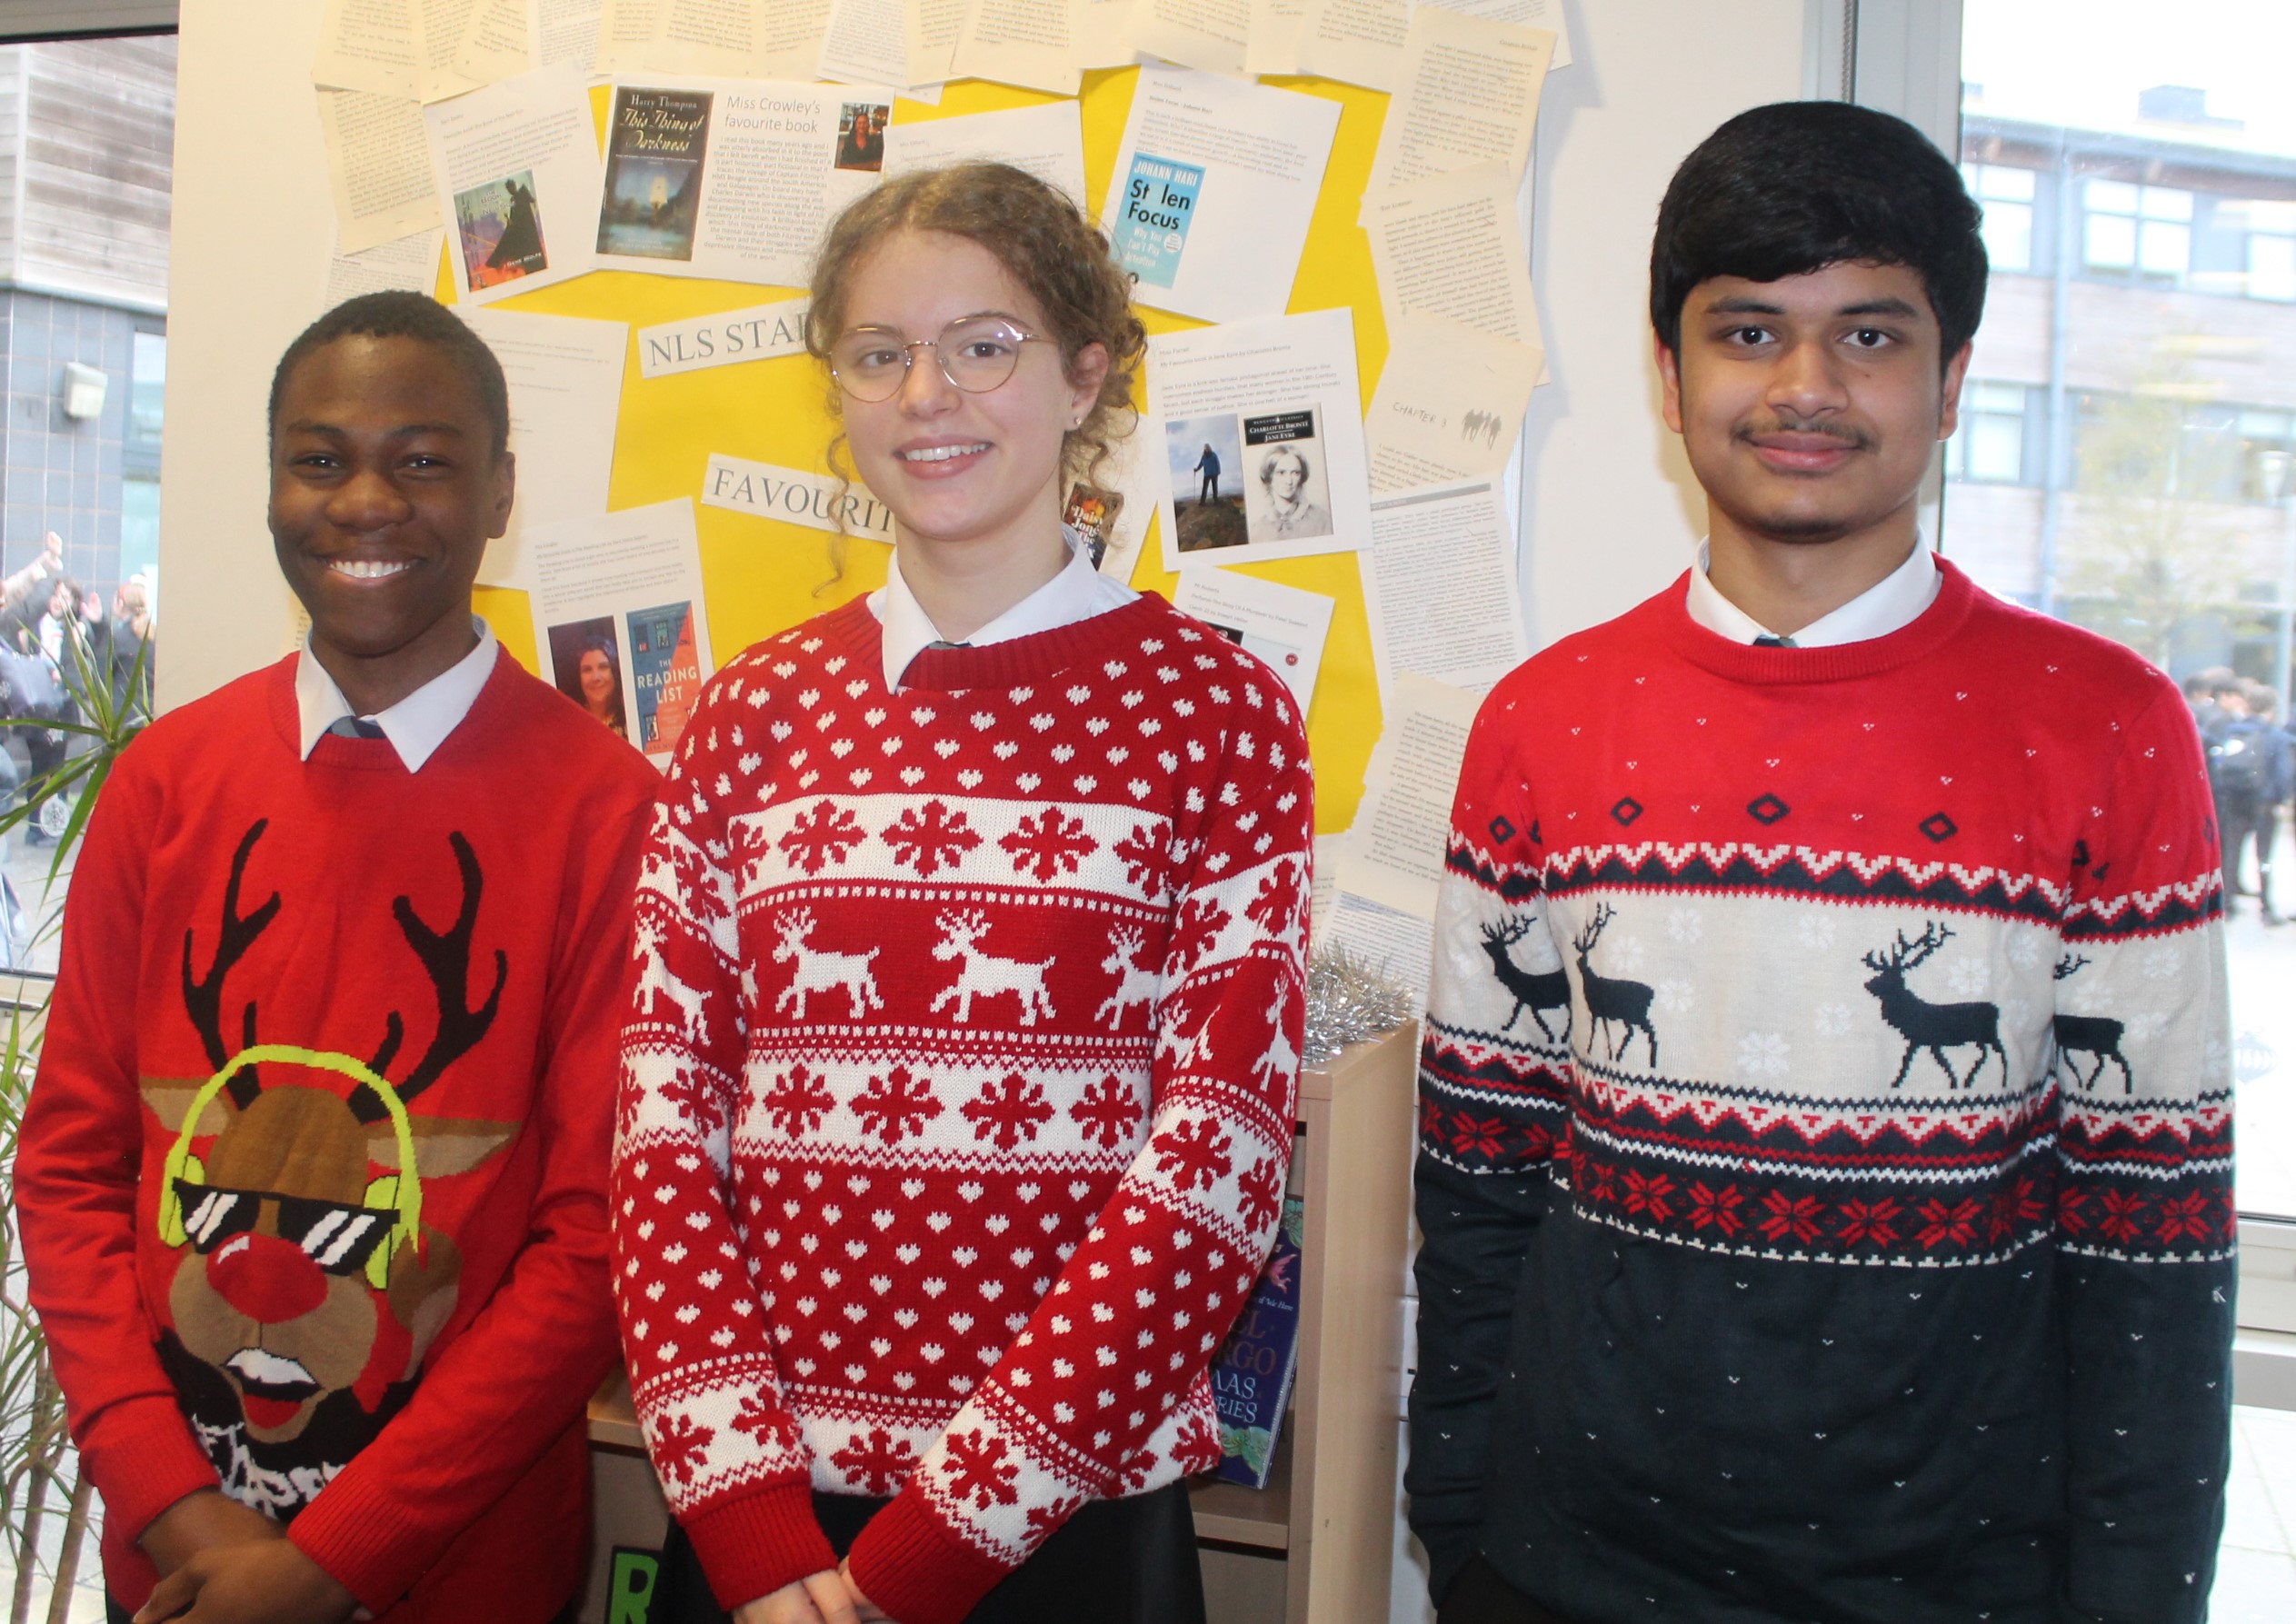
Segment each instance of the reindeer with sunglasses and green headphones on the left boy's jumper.
[{"label": "reindeer with sunglasses and green headphones on the left boy's jumper", "polygon": [[461,1252],[422,1222],[422,1181],[482,1165],[517,1123],[406,1109],[487,1036],[510,974],[496,951],[494,985],[471,1006],[484,880],[461,834],[448,836],[461,877],[455,921],[434,930],[406,896],[390,910],[439,1004],[402,1082],[386,1075],[406,1043],[397,1011],[358,1061],[262,1043],[248,999],[232,1050],[225,979],[282,907],[273,891],[241,912],[264,827],[232,852],[204,972],[197,933],[184,933],[184,1011],[216,1073],[145,1080],[142,1098],[179,1135],[158,1204],[163,1243],[184,1252],[161,1358],[225,1493],[289,1521],[406,1401],[455,1312]]}]

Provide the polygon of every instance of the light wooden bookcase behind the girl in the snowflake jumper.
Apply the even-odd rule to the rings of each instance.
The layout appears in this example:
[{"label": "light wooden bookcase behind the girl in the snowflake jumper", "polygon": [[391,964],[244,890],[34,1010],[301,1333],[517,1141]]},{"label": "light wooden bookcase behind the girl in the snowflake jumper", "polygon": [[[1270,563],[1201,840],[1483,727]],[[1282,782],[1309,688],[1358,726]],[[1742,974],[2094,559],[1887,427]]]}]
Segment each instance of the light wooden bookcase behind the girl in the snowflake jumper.
[{"label": "light wooden bookcase behind the girl in the snowflake jumper", "polygon": [[[1281,1615],[1249,1624],[1387,1617],[1417,1054],[1419,1029],[1403,1027],[1300,1073],[1306,1227],[1293,1415],[1267,1488],[1192,1491],[1201,1541],[1283,1560]],[[629,1475],[643,1440],[620,1374],[590,1406],[590,1443],[611,1456],[597,1475],[602,1557],[613,1544],[659,1544],[661,1500]],[[583,1617],[604,1619],[599,1585]]]}]

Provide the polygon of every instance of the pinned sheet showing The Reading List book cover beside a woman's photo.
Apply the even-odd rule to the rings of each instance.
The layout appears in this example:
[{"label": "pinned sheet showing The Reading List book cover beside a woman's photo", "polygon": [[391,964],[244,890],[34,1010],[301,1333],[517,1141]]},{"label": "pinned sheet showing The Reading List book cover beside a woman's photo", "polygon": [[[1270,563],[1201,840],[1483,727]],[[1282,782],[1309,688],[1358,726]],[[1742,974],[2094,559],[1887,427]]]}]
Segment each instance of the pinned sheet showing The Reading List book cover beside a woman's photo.
[{"label": "pinned sheet showing The Reading List book cover beside a woman's photo", "polygon": [[716,671],[693,503],[542,526],[530,540],[542,680],[666,763]]}]

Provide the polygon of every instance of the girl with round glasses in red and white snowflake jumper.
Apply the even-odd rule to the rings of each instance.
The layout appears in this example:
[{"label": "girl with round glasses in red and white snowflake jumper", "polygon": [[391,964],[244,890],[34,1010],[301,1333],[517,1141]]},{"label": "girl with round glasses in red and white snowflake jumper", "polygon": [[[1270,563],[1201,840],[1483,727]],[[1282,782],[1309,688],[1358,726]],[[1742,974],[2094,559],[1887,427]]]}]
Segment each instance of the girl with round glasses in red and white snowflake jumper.
[{"label": "girl with round glasses in red and white snowflake jumper", "polygon": [[657,1613],[1203,1617],[1182,1479],[1283,1194],[1311,786],[1283,682],[1061,524],[1130,427],[1127,294],[992,163],[822,248],[895,547],[716,675],[645,854],[613,1275]]}]

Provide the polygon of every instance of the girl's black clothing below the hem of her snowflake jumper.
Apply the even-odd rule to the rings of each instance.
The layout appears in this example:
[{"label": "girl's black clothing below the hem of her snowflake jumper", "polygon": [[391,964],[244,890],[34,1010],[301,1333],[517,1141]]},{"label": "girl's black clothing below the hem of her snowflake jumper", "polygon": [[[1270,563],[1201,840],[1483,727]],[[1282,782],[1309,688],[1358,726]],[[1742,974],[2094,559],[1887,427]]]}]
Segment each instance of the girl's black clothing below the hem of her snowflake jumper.
[{"label": "girl's black clothing below the hem of her snowflake jumper", "polygon": [[[840,1557],[884,1500],[813,1495],[813,1516]],[[1006,1573],[967,1624],[1203,1624],[1203,1569],[1187,1484],[1137,1500],[1095,1500]],[[687,1532],[670,1525],[654,1580],[652,1624],[726,1624]]]}]

